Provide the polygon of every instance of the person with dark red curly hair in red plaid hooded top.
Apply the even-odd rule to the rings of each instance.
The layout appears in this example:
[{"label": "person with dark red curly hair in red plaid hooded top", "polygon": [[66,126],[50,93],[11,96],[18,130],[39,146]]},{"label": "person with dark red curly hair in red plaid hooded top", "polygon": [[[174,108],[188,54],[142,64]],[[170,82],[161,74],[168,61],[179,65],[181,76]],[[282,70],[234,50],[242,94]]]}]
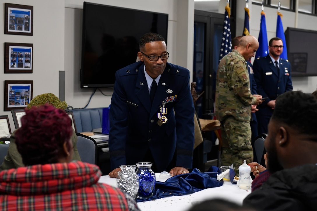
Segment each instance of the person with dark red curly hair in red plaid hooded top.
[{"label": "person with dark red curly hair in red plaid hooded top", "polygon": [[139,210],[131,196],[98,183],[98,166],[71,162],[72,122],[64,110],[25,112],[16,131],[25,167],[0,172],[0,210]]}]

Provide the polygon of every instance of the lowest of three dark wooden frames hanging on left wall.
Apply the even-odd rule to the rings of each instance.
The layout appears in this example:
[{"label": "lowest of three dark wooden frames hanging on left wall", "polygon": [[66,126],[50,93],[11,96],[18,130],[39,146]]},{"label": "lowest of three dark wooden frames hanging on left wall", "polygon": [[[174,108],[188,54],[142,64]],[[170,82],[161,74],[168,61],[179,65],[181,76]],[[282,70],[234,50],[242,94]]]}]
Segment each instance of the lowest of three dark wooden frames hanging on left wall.
[{"label": "lowest of three dark wooden frames hanging on left wall", "polygon": [[33,80],[4,81],[4,111],[24,109],[33,97]]}]

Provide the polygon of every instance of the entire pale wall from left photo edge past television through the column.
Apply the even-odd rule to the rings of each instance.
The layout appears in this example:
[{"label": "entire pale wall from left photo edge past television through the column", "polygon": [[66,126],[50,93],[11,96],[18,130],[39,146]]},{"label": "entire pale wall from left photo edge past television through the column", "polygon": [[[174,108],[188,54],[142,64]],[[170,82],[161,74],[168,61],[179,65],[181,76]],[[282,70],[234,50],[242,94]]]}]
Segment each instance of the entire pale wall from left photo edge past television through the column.
[{"label": "entire pale wall from left photo edge past television through the column", "polygon": [[[0,11],[4,11],[4,3],[0,0]],[[79,71],[81,66],[81,30],[82,8],[84,0],[10,0],[10,3],[31,5],[34,7],[33,36],[4,35],[4,42],[33,43],[34,62],[32,74],[4,74],[0,72],[0,99],[4,99],[4,80],[33,80],[33,97],[41,93],[59,95],[59,71],[65,71],[65,100],[74,108],[84,107],[94,89],[81,89]],[[169,62],[192,70],[193,67],[193,0],[94,0],[111,6],[167,13]],[[4,20],[0,16],[2,29]],[[4,44],[0,49],[0,67],[4,66]],[[192,78],[192,76],[191,76]],[[110,104],[112,88],[102,88],[92,97],[87,108],[106,107]],[[3,102],[0,103],[0,115],[8,115],[11,130],[14,124],[11,112],[3,112]]]}]

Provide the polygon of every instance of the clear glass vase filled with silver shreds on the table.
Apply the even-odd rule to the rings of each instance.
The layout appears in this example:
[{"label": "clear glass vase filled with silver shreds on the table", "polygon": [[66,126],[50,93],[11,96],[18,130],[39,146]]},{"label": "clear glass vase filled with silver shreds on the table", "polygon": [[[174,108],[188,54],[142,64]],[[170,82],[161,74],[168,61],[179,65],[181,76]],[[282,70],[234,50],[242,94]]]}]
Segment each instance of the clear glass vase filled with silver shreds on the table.
[{"label": "clear glass vase filled with silver shreds on the table", "polygon": [[118,172],[117,187],[136,198],[139,190],[139,176],[135,173],[136,165],[121,165]]}]

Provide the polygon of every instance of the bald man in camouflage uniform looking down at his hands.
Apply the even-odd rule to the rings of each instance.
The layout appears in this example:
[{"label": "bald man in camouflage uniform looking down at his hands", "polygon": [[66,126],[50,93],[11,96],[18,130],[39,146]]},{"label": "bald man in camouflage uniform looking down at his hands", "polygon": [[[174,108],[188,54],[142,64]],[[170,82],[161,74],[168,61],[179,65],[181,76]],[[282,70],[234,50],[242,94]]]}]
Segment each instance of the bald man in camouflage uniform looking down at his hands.
[{"label": "bald man in camouflage uniform looking down at his hands", "polygon": [[222,58],[216,79],[216,117],[221,122],[221,164],[236,168],[246,160],[253,161],[251,146],[251,105],[262,103],[261,95],[252,95],[245,60],[259,47],[253,36],[240,39],[239,46]]}]

